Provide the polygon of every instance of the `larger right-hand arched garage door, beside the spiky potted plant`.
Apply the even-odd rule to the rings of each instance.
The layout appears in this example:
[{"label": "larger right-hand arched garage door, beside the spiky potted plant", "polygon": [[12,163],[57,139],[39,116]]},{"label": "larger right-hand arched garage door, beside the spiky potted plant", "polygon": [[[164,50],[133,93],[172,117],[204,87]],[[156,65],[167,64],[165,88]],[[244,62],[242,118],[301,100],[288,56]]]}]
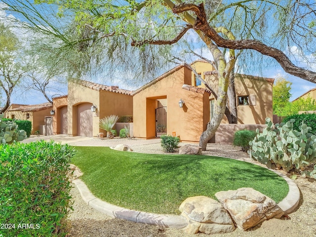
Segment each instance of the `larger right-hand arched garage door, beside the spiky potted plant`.
[{"label": "larger right-hand arched garage door, beside the spiky potted plant", "polygon": [[92,137],[92,104],[84,103],[78,106],[77,134],[78,136]]}]

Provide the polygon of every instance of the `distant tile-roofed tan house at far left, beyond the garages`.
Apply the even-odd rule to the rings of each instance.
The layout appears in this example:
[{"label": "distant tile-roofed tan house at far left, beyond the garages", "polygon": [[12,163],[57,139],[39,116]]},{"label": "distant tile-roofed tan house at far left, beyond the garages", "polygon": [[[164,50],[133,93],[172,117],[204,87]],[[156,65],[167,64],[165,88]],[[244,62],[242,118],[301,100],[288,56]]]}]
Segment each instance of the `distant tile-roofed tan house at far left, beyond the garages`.
[{"label": "distant tile-roofed tan house at far left, beyond the garages", "polygon": [[45,117],[50,117],[52,108],[53,106],[49,102],[24,106],[12,104],[6,111],[6,118],[30,120],[32,122],[31,133],[34,134],[35,131],[40,130],[41,125],[45,125]]}]

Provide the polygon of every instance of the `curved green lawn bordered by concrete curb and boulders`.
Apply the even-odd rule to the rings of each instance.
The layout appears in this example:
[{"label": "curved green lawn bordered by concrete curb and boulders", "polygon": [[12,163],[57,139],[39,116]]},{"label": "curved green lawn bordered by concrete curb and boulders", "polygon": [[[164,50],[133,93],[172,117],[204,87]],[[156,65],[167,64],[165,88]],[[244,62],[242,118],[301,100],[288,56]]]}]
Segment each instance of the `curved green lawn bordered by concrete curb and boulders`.
[{"label": "curved green lawn bordered by concrete curb and boulders", "polygon": [[118,152],[108,147],[76,147],[72,158],[82,180],[102,200],[128,209],[179,214],[184,199],[215,198],[219,191],[251,187],[276,202],[288,193],[274,172],[239,160],[184,155]]}]

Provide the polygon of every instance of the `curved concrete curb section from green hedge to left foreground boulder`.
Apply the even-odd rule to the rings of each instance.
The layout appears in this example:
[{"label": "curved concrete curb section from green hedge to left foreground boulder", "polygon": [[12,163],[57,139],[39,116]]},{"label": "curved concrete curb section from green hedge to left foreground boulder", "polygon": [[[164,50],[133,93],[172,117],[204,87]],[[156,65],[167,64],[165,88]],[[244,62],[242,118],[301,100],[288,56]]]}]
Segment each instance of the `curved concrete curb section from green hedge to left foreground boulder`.
[{"label": "curved concrete curb section from green hedge to left foreground boulder", "polygon": [[73,183],[78,188],[79,193],[85,203],[87,203],[92,208],[111,217],[133,221],[136,223],[156,225],[164,228],[182,229],[188,225],[183,216],[153,214],[142,211],[124,209],[122,207],[110,204],[93,196],[85,183],[83,183],[83,181],[81,181],[80,179],[73,180]]}]

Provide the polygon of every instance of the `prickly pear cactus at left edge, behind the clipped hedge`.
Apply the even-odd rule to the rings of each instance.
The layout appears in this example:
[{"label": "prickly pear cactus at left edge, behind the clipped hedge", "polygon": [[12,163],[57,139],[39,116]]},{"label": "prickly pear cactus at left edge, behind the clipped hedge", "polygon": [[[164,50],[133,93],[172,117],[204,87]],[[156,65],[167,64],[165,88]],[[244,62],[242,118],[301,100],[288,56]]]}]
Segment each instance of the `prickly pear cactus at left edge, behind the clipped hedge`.
[{"label": "prickly pear cactus at left edge, behind the clipped hedge", "polygon": [[26,136],[24,130],[17,130],[18,125],[14,121],[3,121],[0,114],[0,144],[11,144],[14,141],[22,141]]}]

